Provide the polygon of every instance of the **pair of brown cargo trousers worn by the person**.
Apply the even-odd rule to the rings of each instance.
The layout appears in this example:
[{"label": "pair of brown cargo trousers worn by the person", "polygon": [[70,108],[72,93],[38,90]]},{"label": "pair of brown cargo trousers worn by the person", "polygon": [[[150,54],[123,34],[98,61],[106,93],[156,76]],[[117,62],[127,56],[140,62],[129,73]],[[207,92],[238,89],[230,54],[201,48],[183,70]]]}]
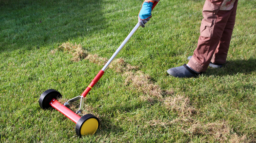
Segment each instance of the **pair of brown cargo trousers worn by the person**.
[{"label": "pair of brown cargo trousers worn by the person", "polygon": [[231,10],[220,9],[231,2],[232,0],[205,1],[197,48],[188,62],[188,66],[193,70],[202,72],[206,71],[210,62],[218,64],[226,62],[238,0],[233,0]]}]

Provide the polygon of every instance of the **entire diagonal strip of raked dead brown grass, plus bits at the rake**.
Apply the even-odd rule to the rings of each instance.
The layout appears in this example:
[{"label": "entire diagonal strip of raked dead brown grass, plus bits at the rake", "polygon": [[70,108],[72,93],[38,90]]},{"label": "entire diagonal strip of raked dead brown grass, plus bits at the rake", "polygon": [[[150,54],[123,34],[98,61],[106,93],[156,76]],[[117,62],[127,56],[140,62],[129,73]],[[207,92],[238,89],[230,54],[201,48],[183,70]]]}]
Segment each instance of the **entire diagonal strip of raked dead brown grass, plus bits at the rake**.
[{"label": "entire diagonal strip of raked dead brown grass, plus bits at the rake", "polygon": [[[98,55],[86,55],[86,52],[82,50],[81,45],[76,43],[63,43],[59,46],[59,50],[68,51],[74,56],[74,60],[78,61],[82,58],[88,59],[92,63],[103,65],[107,62],[106,58],[99,57]],[[54,53],[55,51],[52,51]],[[207,142],[208,138],[216,140],[216,142],[231,142],[231,143],[247,143],[249,142],[246,135],[238,135],[232,131],[230,125],[226,121],[216,121],[213,123],[204,124],[200,121],[192,119],[192,116],[197,114],[197,110],[191,105],[190,100],[184,95],[174,95],[173,91],[163,91],[160,87],[151,81],[148,74],[144,74],[142,71],[132,72],[133,69],[138,69],[137,66],[131,66],[127,64],[122,58],[118,58],[110,65],[111,69],[115,69],[117,72],[123,72],[122,75],[126,77],[124,84],[130,86],[131,89],[137,92],[142,92],[144,95],[140,96],[142,100],[154,103],[156,100],[162,101],[163,106],[169,110],[177,112],[180,116],[174,120],[160,120],[153,119],[147,122],[149,126],[171,126],[177,124],[181,126],[181,130],[187,132],[187,135],[191,138],[195,136],[206,136],[202,139],[202,142]],[[163,97],[162,95],[171,95]],[[65,103],[67,99],[58,99],[60,103]],[[79,102],[71,104],[69,107],[72,111],[76,111],[79,108]],[[99,117],[94,112],[95,109],[89,105],[84,106],[84,111],[81,115],[92,113]],[[119,120],[118,120],[119,121]]]}]

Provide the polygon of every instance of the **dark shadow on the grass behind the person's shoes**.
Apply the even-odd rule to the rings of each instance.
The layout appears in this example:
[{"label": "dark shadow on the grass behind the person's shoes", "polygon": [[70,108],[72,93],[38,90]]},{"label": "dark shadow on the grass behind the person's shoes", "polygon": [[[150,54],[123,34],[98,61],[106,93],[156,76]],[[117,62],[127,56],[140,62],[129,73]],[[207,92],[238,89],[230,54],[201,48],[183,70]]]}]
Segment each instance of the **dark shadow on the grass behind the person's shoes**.
[{"label": "dark shadow on the grass behind the person's shoes", "polygon": [[207,75],[234,75],[237,73],[250,74],[251,72],[256,71],[256,59],[249,58],[248,60],[231,60],[227,61],[223,68],[213,69],[208,68],[206,71]]}]

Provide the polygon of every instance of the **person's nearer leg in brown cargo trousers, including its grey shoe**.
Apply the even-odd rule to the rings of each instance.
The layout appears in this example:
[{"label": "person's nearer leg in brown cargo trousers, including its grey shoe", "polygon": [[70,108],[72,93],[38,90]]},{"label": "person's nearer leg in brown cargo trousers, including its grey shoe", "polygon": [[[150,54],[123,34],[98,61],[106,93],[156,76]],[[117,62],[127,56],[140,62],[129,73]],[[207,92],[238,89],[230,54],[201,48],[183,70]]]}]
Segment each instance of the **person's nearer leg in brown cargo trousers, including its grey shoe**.
[{"label": "person's nearer leg in brown cargo trousers, including its grey shoe", "polygon": [[[210,60],[220,42],[225,25],[229,19],[230,10],[219,12],[224,0],[206,0],[203,7],[203,20],[200,27],[200,37],[194,55],[188,64],[168,69],[175,77],[192,77],[206,71]],[[190,70],[189,70],[190,69]],[[192,73],[193,72],[193,73]]]}]

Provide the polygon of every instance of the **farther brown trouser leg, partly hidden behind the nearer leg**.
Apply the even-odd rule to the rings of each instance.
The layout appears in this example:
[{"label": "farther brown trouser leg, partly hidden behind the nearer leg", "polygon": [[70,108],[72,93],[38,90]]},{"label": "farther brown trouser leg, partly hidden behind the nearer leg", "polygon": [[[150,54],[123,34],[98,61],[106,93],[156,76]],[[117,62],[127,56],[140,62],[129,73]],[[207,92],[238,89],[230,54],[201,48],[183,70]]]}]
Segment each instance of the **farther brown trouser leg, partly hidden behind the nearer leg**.
[{"label": "farther brown trouser leg, partly hidden behind the nearer leg", "polygon": [[[221,40],[212,56],[212,63],[224,64],[226,62],[227,52],[235,25],[237,2],[238,0],[234,3],[234,7],[230,10],[230,15],[222,33]],[[222,13],[222,10],[220,10],[220,12]]]}]

